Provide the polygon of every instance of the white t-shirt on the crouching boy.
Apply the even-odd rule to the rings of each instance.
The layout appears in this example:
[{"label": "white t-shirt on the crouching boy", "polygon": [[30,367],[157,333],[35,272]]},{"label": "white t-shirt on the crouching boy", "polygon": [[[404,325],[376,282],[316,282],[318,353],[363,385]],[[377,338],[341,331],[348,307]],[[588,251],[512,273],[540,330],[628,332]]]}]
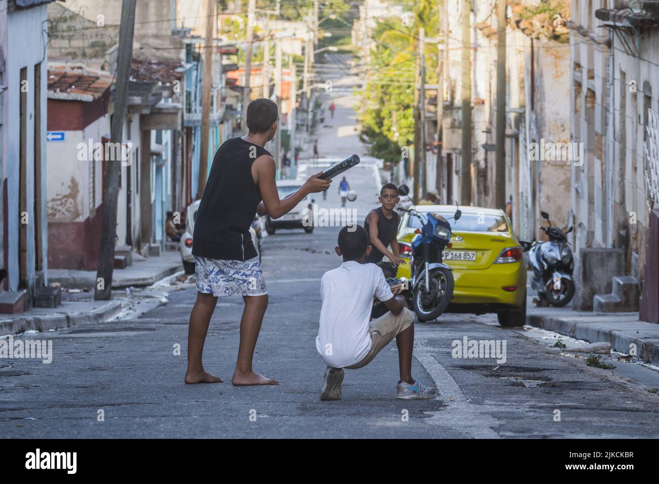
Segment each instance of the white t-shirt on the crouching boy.
[{"label": "white t-shirt on the crouching boy", "polygon": [[328,366],[358,363],[370,350],[368,333],[373,298],[393,298],[382,269],[375,264],[347,261],[320,280],[322,306],[316,349]]}]

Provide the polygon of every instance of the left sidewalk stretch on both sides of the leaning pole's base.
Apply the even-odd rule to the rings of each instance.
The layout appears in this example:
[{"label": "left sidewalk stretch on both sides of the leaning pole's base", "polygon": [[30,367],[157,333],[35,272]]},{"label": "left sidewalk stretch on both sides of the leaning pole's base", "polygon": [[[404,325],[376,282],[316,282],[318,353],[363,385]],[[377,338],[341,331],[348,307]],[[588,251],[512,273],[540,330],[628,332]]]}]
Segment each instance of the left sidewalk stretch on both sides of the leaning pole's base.
[{"label": "left sidewalk stretch on both sides of the leaning pole's base", "polygon": [[[143,261],[133,260],[132,265],[126,269],[115,269],[112,275],[112,287],[149,286],[181,270],[183,270],[181,253],[178,250],[165,251],[158,256],[147,257]],[[96,271],[49,269],[48,280],[59,282],[65,288],[92,289],[96,286]]]}]

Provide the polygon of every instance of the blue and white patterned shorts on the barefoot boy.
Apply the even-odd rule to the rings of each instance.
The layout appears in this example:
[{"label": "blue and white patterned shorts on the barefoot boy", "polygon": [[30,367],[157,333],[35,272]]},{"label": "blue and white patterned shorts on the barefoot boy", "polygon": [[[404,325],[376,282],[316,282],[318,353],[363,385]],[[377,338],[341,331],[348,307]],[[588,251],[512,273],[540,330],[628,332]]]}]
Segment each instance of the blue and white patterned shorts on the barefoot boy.
[{"label": "blue and white patterned shorts on the barefoot boy", "polygon": [[213,296],[263,296],[268,294],[258,257],[248,261],[194,256],[198,292]]}]

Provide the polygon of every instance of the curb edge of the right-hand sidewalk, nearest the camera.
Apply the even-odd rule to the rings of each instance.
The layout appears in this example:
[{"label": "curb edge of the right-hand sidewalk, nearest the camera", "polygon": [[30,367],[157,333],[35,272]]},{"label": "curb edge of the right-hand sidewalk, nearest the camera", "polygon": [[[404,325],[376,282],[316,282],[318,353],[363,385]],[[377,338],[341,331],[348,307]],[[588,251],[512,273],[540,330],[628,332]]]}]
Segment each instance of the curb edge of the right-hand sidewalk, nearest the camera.
[{"label": "curb edge of the right-hand sidewalk, nearest the camera", "polygon": [[579,321],[563,317],[527,314],[527,325],[555,331],[561,335],[571,336],[588,342],[606,341],[611,343],[612,350],[629,354],[629,348],[634,344],[637,348],[637,358],[646,363],[659,366],[659,337],[640,336],[645,325],[650,325],[652,331],[659,330],[658,325],[637,321],[638,329],[612,329],[612,322]]}]

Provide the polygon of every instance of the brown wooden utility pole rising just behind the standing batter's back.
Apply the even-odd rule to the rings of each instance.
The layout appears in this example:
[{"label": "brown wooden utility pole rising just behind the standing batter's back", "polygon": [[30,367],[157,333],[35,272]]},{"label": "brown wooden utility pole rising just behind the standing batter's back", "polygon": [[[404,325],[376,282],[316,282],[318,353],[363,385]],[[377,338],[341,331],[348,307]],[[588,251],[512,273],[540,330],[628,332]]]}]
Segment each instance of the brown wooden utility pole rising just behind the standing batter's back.
[{"label": "brown wooden utility pole rising just behind the standing batter's back", "polygon": [[210,130],[210,92],[213,83],[213,32],[215,26],[215,0],[206,0],[206,42],[204,43],[204,85],[202,90],[202,125],[199,144],[199,173],[197,196],[201,200],[208,178],[208,131]]}]

